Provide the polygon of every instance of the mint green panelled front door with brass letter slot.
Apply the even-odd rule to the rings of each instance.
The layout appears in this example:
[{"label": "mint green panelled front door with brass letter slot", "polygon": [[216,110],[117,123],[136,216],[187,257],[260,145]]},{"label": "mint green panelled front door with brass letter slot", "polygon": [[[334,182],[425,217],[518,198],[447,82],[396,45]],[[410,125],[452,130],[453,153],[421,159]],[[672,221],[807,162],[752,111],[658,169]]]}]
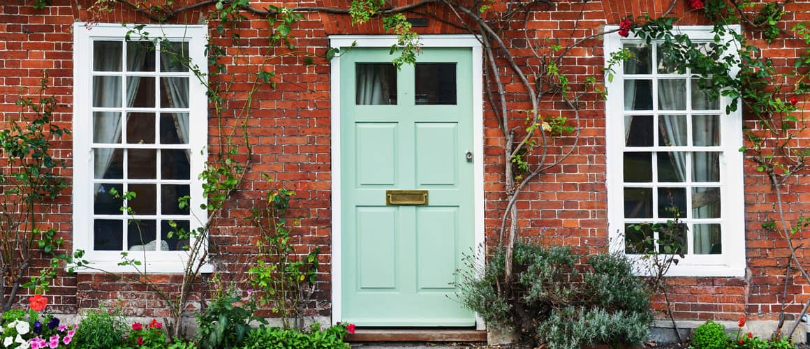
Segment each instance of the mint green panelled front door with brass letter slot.
[{"label": "mint green panelled front door with brass letter slot", "polygon": [[[387,48],[340,57],[340,321],[475,325],[454,295],[474,245],[471,58],[424,49],[396,70]],[[427,204],[386,205],[386,190]]]}]

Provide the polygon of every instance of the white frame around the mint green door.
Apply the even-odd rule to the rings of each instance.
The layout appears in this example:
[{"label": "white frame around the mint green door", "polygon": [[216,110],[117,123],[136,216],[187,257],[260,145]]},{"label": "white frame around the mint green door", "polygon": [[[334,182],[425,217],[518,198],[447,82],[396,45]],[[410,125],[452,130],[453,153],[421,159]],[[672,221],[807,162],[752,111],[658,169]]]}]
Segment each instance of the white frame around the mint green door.
[{"label": "white frame around the mint green door", "polygon": [[[355,46],[391,47],[397,42],[393,35],[336,35],[329,36],[331,48]],[[420,46],[429,47],[463,47],[472,49],[472,144],[473,144],[473,190],[475,222],[475,259],[476,265],[484,265],[484,100],[482,80],[482,49],[480,41],[472,35],[424,35],[420,36]],[[419,60],[419,57],[416,57]],[[459,72],[459,74],[463,74]],[[332,178],[332,248],[331,248],[331,288],[332,288],[332,324],[335,325],[342,316],[343,296],[341,283],[341,219],[340,185],[341,185],[341,149],[340,149],[340,56],[331,62],[331,178]],[[476,316],[476,327],[484,329],[484,321]]]}]

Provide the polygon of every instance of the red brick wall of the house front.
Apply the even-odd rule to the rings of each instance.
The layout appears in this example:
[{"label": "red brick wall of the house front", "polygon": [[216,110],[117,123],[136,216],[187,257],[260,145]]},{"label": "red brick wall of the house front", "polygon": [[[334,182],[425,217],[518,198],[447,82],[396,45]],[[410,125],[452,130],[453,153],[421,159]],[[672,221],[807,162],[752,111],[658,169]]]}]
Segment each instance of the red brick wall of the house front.
[{"label": "red brick wall of the house front", "polygon": [[[270,2],[266,2],[270,3]],[[348,0],[322,0],[288,2],[300,6],[333,6],[347,8]],[[11,0],[0,5],[0,114],[10,117],[18,112],[15,100],[29,96],[46,70],[50,76],[48,93],[57,97],[60,103],[56,121],[62,126],[70,126],[72,103],[72,33],[70,26],[75,21],[100,21],[111,23],[149,23],[150,20],[125,6],[115,6],[113,11],[100,16],[87,12],[92,1],[78,3],[69,0],[54,0],[53,6],[45,10],[32,8],[31,0]],[[260,2],[254,2],[261,5]],[[178,6],[182,3],[178,2]],[[548,52],[548,45],[566,45],[571,40],[593,35],[605,24],[616,24],[629,15],[660,15],[668,2],[625,0],[602,2],[569,3],[555,2],[551,8],[540,4],[524,22],[518,16],[508,23],[505,42],[518,56],[521,66],[536,65],[531,48]],[[437,13],[441,17],[454,20],[454,14],[445,7],[432,5],[423,9]],[[491,16],[500,15],[495,8]],[[172,19],[172,23],[199,23],[204,19],[204,9],[184,12]],[[791,2],[785,15],[784,28],[810,19],[810,2]],[[701,22],[700,13],[688,11],[686,4],[679,2],[672,15],[683,18],[680,23]],[[236,82],[234,92],[228,96],[228,113],[234,115],[245,104],[247,90],[257,64],[265,57],[287,52],[285,49],[269,48],[266,37],[271,29],[266,20],[248,15],[250,20],[238,29],[244,45],[232,46],[229,40],[214,38],[218,45],[231,47],[230,56],[223,63],[233,71]],[[415,15],[419,16],[419,15]],[[213,26],[214,24],[211,24]],[[527,28],[524,31],[523,28]],[[298,49],[315,55],[326,53],[327,35],[382,33],[379,23],[352,26],[347,15],[332,15],[321,12],[305,13],[305,19],[296,23],[292,35],[296,36]],[[421,33],[465,33],[448,23],[431,19],[431,26],[418,28]],[[795,39],[778,39],[768,44],[760,39],[757,32],[746,31],[752,44],[762,49],[765,57],[774,57],[774,64],[791,66],[797,57],[797,50],[804,50],[804,44]],[[530,46],[531,44],[531,46]],[[578,49],[570,51],[569,57],[561,62],[561,71],[568,74],[575,88],[589,76],[601,79],[603,66],[603,44],[599,37],[582,43]],[[505,62],[499,58],[499,64]],[[245,177],[241,190],[228,202],[228,210],[215,220],[211,241],[221,246],[214,251],[214,259],[220,270],[232,272],[230,278],[243,282],[244,272],[252,262],[255,228],[245,217],[262,202],[262,194],[273,185],[283,183],[296,191],[291,202],[294,208],[291,215],[301,216],[301,228],[296,232],[300,237],[296,243],[300,252],[319,247],[321,249],[321,269],[319,270],[318,304],[312,304],[314,312],[329,315],[330,298],[330,75],[329,65],[322,58],[316,58],[314,65],[306,66],[301,55],[283,57],[267,63],[267,70],[276,70],[279,81],[275,89],[261,87],[253,96],[253,115],[249,120],[249,143],[254,148],[251,171]],[[527,71],[528,68],[527,68]],[[508,109],[512,111],[514,126],[521,126],[525,114],[519,110],[531,109],[522,84],[514,76],[503,80],[509,92],[506,96]],[[802,98],[804,100],[804,98]],[[605,191],[605,147],[604,147],[604,103],[597,94],[586,96],[582,104],[578,127],[582,138],[569,159],[564,164],[552,168],[528,186],[518,202],[518,225],[524,236],[556,236],[569,245],[582,246],[587,251],[603,251],[608,244],[607,194]],[[558,97],[541,101],[544,116],[564,115],[573,117],[571,111],[561,105]],[[505,207],[503,185],[503,158],[501,156],[503,138],[497,121],[488,105],[484,110],[484,154],[485,154],[485,223],[490,241],[497,238],[497,227],[501,223],[501,210]],[[214,126],[215,121],[211,121]],[[215,128],[211,128],[211,145],[219,142]],[[571,145],[573,138],[556,138],[552,155],[560,155]],[[801,139],[800,142],[806,142]],[[69,167],[62,171],[70,177],[70,137],[60,143],[57,155],[68,161]],[[689,319],[736,319],[742,313],[773,319],[782,301],[782,281],[785,278],[784,265],[787,262],[787,249],[782,240],[773,233],[763,232],[760,222],[773,216],[773,197],[770,187],[757,173],[752,164],[746,163],[746,253],[748,257],[748,277],[746,278],[673,278],[671,279],[670,299],[675,303],[676,316]],[[260,177],[267,173],[278,182],[269,184]],[[792,216],[810,208],[810,190],[804,179],[798,179],[787,188],[791,195],[788,210]],[[66,189],[53,208],[45,212],[60,236],[70,240],[70,189]],[[802,239],[808,236],[799,236]],[[65,246],[70,249],[68,243]],[[799,251],[803,261],[810,263]],[[43,261],[40,261],[43,262]],[[800,303],[810,297],[810,287],[801,279],[790,275],[791,287],[788,301],[793,302],[789,309],[798,313]],[[177,277],[165,278],[169,289],[176,287]],[[207,283],[200,285],[210,287]],[[126,283],[105,275],[66,275],[61,273],[52,287],[50,304],[56,312],[73,313],[77,309],[95,307],[100,302],[124,300],[132,315],[163,316],[165,309],[156,300],[153,292],[143,286]],[[655,297],[660,301],[660,297]],[[799,303],[799,304],[797,304]]]}]

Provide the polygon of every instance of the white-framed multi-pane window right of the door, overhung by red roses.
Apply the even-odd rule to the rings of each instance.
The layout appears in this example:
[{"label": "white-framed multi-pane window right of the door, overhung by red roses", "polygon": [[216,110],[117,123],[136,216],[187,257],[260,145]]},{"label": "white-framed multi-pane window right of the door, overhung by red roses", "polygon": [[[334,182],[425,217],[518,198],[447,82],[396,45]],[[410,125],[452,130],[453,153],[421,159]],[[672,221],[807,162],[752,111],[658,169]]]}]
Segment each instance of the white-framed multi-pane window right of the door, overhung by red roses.
[{"label": "white-framed multi-pane window right of the door, overhung by red roses", "polygon": [[[705,53],[713,34],[680,28]],[[615,34],[615,33],[614,33]],[[657,42],[605,37],[627,59],[608,84],[608,219],[631,256],[681,254],[675,275],[742,270],[744,210],[739,111],[710,98],[699,77],[667,62]],[[710,78],[710,77],[709,77]],[[744,262],[744,261],[742,261]]]}]

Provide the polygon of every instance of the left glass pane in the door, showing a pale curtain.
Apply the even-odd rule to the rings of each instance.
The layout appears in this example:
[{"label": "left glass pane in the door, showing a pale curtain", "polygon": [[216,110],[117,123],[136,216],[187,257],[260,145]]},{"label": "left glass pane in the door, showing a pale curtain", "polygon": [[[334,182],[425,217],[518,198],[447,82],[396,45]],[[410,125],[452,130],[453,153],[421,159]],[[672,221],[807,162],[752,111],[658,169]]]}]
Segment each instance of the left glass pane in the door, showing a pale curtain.
[{"label": "left glass pane in the door, showing a pale curtain", "polygon": [[391,63],[356,63],[357,105],[397,104],[397,69]]}]

